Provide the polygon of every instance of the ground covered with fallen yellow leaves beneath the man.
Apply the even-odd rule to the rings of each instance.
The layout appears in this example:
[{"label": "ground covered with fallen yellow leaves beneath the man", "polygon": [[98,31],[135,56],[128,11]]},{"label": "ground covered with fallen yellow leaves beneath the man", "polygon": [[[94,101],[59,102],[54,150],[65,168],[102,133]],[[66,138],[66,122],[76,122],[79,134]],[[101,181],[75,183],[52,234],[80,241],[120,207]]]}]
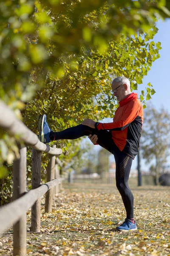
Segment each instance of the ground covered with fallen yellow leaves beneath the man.
[{"label": "ground covered with fallen yellow leaves beneath the man", "polygon": [[[116,187],[111,185],[65,185],[51,213],[44,212],[41,233],[27,232],[27,255],[31,256],[170,256],[170,187],[132,187],[138,230],[117,232],[125,209]],[[28,230],[31,213],[27,213]],[[0,238],[0,255],[13,255],[13,234]]]}]

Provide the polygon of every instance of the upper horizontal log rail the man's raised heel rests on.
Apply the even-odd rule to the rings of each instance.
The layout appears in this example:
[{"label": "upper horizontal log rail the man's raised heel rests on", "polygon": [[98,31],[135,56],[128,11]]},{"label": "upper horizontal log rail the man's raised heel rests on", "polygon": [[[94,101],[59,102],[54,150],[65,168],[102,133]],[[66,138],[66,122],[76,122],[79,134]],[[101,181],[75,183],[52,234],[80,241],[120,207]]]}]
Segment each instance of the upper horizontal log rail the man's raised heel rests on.
[{"label": "upper horizontal log rail the man's raised heel rests on", "polygon": [[13,111],[0,100],[0,127],[8,131],[12,135],[19,135],[24,143],[31,145],[33,148],[48,152],[48,154],[62,154],[61,148],[51,148],[38,139],[38,136],[29,130],[26,125],[20,120],[18,120]]}]

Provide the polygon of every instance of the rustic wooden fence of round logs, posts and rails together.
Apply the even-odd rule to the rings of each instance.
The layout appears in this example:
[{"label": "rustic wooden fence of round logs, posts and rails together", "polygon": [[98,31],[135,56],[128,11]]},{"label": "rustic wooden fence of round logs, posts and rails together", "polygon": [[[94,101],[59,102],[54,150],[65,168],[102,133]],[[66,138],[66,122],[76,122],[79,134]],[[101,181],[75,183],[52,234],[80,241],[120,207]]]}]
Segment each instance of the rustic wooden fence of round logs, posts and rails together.
[{"label": "rustic wooden fence of round logs, posts and rails together", "polygon": [[[45,196],[45,212],[52,209],[53,189],[58,191],[56,155],[62,154],[56,145],[41,143],[37,135],[18,120],[4,102],[0,101],[0,127],[11,135],[19,135],[25,143],[19,145],[20,159],[13,163],[13,202],[0,207],[0,234],[13,224],[13,255],[26,256],[26,211],[31,208],[31,232],[40,233],[40,198]],[[32,190],[26,191],[26,145],[32,146]],[[48,152],[47,183],[41,185],[41,152]],[[55,179],[54,179],[55,178]]]}]

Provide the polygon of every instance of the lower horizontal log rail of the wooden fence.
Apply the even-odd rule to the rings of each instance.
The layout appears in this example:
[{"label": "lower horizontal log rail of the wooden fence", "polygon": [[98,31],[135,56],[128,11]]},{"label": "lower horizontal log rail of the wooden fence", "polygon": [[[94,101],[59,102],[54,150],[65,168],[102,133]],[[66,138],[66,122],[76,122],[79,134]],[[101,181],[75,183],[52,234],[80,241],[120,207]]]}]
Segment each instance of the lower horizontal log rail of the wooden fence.
[{"label": "lower horizontal log rail of the wooden fence", "polygon": [[0,207],[0,233],[3,233],[11,224],[17,222],[38,198],[42,197],[42,195],[57,184],[60,184],[59,179],[51,180],[37,189],[31,189],[12,203]]}]

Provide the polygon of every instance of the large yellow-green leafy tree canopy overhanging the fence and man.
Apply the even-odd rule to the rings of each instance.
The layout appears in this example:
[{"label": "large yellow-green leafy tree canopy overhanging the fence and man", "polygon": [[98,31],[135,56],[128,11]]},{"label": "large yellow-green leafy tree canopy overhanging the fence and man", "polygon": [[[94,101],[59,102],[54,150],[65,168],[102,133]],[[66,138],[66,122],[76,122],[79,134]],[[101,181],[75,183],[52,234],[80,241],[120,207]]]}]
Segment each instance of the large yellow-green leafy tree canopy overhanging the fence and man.
[{"label": "large yellow-green leafy tree canopy overhanging the fence and man", "polygon": [[[0,99],[34,132],[42,113],[54,129],[113,115],[112,77],[127,76],[133,90],[142,84],[161,49],[155,22],[169,9],[164,0],[1,1]],[[141,101],[154,92],[148,84]],[[1,131],[0,163],[17,152]]]}]

